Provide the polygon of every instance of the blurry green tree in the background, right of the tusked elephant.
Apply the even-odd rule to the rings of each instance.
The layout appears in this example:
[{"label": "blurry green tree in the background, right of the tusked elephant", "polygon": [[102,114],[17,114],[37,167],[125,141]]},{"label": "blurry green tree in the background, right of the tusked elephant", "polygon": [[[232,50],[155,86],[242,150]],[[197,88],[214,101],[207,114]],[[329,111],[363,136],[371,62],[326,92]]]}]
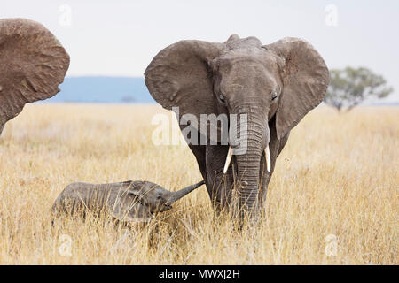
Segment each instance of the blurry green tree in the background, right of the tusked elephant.
[{"label": "blurry green tree in the background, right of the tusked elephant", "polygon": [[382,76],[364,67],[331,70],[330,79],[325,103],[338,111],[350,111],[368,97],[382,98],[394,91]]}]

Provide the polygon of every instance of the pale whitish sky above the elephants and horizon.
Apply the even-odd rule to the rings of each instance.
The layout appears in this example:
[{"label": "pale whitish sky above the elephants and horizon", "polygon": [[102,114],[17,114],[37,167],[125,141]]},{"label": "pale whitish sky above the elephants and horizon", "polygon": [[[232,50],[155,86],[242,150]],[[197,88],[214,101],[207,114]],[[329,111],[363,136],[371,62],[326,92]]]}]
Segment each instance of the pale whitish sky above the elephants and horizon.
[{"label": "pale whitish sky above the elephants and horizon", "polygon": [[[366,66],[399,102],[399,1],[0,0],[0,18],[41,22],[71,56],[67,76],[141,76],[152,58],[182,39],[310,42],[329,68]],[[336,13],[335,13],[336,11]],[[336,24],[336,25],[335,25]]]}]

